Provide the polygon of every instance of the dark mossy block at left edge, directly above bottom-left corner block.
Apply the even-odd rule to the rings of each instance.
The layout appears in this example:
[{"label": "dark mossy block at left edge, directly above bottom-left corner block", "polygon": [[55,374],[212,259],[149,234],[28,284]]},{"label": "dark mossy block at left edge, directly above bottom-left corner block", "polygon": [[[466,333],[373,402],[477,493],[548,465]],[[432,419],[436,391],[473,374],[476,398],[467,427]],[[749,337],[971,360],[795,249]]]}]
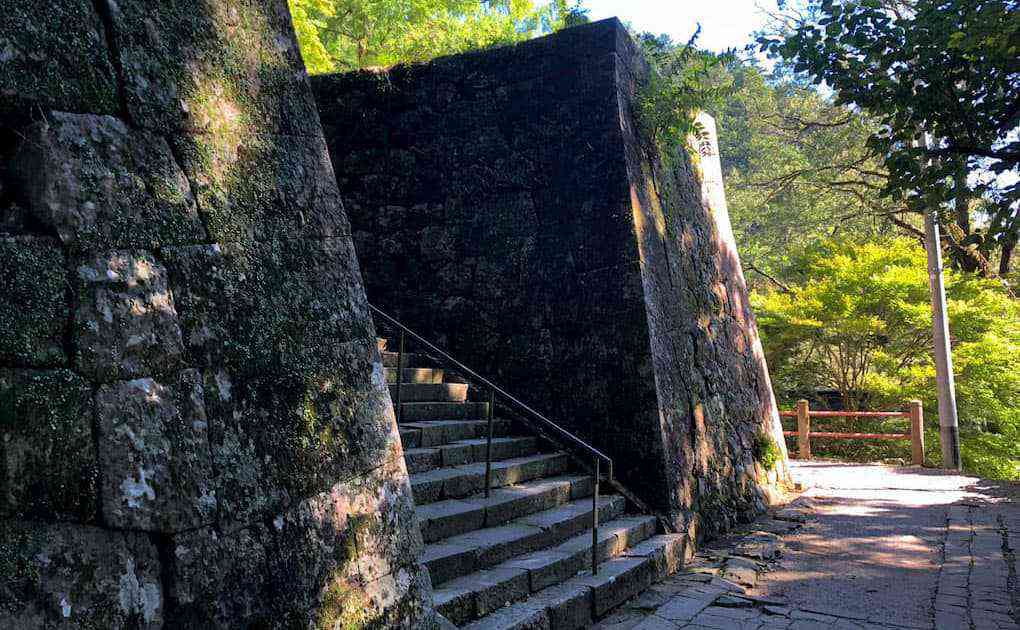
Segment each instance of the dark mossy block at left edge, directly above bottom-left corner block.
[{"label": "dark mossy block at left edge, directly above bottom-left corner block", "polygon": [[92,409],[68,370],[0,369],[0,518],[95,521]]}]

